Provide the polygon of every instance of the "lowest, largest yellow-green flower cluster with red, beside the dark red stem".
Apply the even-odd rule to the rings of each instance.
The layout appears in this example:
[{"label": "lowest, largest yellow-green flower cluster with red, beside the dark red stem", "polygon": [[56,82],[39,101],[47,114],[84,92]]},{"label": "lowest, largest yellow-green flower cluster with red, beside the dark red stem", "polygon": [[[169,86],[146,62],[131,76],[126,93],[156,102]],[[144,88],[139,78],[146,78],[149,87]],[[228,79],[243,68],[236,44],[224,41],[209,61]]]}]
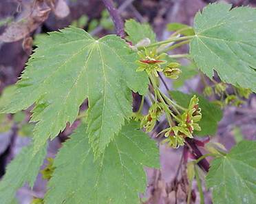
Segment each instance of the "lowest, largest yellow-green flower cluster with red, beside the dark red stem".
[{"label": "lowest, largest yellow-green flower cluster with red, beside the dark red stem", "polygon": [[186,137],[193,137],[193,131],[201,131],[198,122],[202,118],[202,113],[198,102],[199,99],[193,95],[189,108],[182,115],[178,115],[178,125],[164,130],[164,137],[167,137],[164,139],[164,143],[168,143],[173,148],[178,148],[184,145]]}]

